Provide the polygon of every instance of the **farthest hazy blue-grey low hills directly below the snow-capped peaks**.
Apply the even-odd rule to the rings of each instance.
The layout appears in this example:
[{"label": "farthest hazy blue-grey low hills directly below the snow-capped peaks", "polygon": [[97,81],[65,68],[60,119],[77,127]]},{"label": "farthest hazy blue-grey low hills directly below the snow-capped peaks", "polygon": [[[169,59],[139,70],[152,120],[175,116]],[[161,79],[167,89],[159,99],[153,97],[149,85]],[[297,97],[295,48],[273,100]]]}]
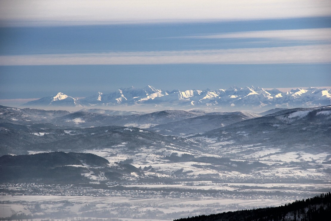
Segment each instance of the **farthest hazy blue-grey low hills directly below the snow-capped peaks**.
[{"label": "farthest hazy blue-grey low hills directly below the snow-capped peaks", "polygon": [[[81,109],[76,112],[69,112],[0,106],[0,127],[3,124],[13,124],[16,126],[12,125],[11,128],[22,127],[23,125],[33,128],[52,129],[63,127],[88,128],[109,125],[150,128],[156,125],[174,123],[161,126],[163,129],[159,129],[161,129],[165,135],[179,135],[206,132],[230,123],[259,116],[259,114],[245,111],[208,113],[202,110],[163,110],[152,113],[142,113],[137,111]],[[192,120],[189,120],[190,118],[192,118]],[[207,121],[210,123],[206,125]],[[8,127],[8,125],[6,127]],[[178,133],[171,132],[174,128],[176,128],[175,131]],[[155,128],[152,130],[159,129]]]}]

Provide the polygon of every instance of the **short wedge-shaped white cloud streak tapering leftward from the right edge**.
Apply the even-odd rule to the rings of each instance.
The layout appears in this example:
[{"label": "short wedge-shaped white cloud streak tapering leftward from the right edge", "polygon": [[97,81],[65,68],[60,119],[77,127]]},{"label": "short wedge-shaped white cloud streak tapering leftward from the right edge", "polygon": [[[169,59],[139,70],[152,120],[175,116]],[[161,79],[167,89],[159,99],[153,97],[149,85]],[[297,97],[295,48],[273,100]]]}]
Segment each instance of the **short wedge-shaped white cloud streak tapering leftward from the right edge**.
[{"label": "short wedge-shaped white cloud streak tapering leftward from the right edge", "polygon": [[173,38],[268,38],[273,40],[331,41],[331,28],[307,28],[289,30],[244,31],[212,35],[184,36]]}]

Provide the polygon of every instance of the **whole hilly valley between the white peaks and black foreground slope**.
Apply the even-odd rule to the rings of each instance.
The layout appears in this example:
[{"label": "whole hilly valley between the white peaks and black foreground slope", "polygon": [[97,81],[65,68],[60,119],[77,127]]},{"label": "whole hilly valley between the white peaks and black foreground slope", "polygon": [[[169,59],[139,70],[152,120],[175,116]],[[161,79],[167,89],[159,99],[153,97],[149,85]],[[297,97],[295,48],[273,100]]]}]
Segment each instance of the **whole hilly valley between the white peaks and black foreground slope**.
[{"label": "whole hilly valley between the white peaks and black foreground slope", "polygon": [[[38,172],[37,179],[3,169],[0,211],[2,217],[172,220],[326,193],[331,190],[330,108],[111,115],[100,109],[2,107],[2,168],[12,170],[6,164],[14,162],[29,174],[34,161],[15,157],[51,164],[54,159],[43,153],[58,154],[64,164],[45,167],[51,174]],[[189,133],[190,127],[200,131]],[[1,161],[5,155],[12,161]],[[18,166],[24,162],[31,163]],[[52,173],[63,179],[56,181]]]}]

